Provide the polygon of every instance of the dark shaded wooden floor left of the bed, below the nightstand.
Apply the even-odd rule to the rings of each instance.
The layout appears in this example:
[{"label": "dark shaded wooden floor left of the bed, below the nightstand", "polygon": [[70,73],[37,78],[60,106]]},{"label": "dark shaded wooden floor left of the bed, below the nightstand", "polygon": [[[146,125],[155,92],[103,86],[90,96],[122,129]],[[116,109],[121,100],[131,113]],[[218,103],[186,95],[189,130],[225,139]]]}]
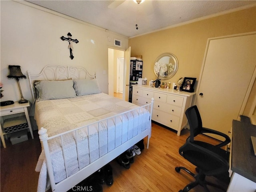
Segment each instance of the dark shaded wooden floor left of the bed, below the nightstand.
[{"label": "dark shaded wooden floor left of the bed, below the nightstand", "polygon": [[1,192],[36,192],[39,173],[35,172],[40,155],[41,144],[37,131],[34,139],[28,134],[28,140],[12,145],[6,141],[6,148],[1,142]]}]

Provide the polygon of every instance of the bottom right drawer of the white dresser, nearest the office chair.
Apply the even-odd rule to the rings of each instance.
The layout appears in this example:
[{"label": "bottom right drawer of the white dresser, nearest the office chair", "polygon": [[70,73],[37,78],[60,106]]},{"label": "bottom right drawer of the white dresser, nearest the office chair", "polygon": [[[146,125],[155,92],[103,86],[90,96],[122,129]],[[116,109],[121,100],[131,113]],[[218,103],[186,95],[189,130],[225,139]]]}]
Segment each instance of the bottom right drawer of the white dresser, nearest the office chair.
[{"label": "bottom right drawer of the white dresser, nearest the office chair", "polygon": [[180,118],[171,114],[154,109],[152,120],[162,123],[174,130],[178,130]]}]

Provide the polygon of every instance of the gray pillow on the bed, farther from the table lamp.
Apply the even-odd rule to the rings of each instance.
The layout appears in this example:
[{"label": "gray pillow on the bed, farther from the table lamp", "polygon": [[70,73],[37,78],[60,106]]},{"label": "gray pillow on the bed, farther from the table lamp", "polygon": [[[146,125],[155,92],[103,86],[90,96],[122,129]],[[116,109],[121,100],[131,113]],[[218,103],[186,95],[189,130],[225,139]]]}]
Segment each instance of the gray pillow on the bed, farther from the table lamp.
[{"label": "gray pillow on the bed, farther from the table lamp", "polygon": [[73,80],[77,96],[101,93],[97,79]]}]

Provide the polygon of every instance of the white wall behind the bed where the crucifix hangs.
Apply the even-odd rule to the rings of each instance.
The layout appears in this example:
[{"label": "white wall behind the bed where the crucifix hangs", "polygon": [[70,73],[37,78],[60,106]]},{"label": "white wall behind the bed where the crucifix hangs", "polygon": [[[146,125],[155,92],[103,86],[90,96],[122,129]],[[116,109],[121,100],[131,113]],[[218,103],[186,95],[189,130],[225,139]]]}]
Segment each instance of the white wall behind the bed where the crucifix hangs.
[{"label": "white wall behind the bed where the crucifix hangs", "polygon": [[[6,77],[8,65],[20,65],[26,76],[28,70],[38,74],[48,64],[81,65],[90,73],[97,73],[102,92],[108,93],[108,48],[115,48],[116,38],[122,40],[125,50],[128,38],[28,2],[0,1],[0,11],[1,101],[20,100],[16,81]],[[74,43],[73,60],[69,58],[68,42],[60,39],[68,32],[79,40]],[[24,98],[32,102],[28,79],[20,80],[20,85]]]}]

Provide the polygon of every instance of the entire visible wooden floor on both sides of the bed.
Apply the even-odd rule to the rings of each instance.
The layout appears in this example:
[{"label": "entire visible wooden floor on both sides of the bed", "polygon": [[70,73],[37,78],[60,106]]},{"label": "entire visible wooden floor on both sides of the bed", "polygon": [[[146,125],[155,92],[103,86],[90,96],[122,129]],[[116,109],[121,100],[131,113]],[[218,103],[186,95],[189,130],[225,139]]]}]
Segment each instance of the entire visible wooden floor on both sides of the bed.
[{"label": "entire visible wooden floor on both sides of the bed", "polygon": [[[130,169],[125,169],[115,160],[110,162],[113,168],[114,184],[103,184],[104,192],[178,192],[194,179],[187,173],[177,173],[176,166],[184,166],[194,171],[194,166],[178,153],[178,148],[184,144],[188,137],[188,130],[182,130],[181,136],[152,123],[152,137],[149,149],[145,149],[134,157]],[[19,144],[12,145],[6,142],[7,148],[1,144],[1,192],[36,192],[39,173],[35,172],[36,162],[40,154],[40,141],[37,132],[34,140],[29,138]],[[208,136],[202,140],[216,143]],[[146,139],[144,140],[146,146]],[[210,178],[209,178],[210,179]],[[217,182],[222,184],[221,182]],[[227,185],[222,184],[225,188]],[[202,187],[197,186],[191,192],[201,192]],[[210,188],[212,192],[218,192]]]}]

